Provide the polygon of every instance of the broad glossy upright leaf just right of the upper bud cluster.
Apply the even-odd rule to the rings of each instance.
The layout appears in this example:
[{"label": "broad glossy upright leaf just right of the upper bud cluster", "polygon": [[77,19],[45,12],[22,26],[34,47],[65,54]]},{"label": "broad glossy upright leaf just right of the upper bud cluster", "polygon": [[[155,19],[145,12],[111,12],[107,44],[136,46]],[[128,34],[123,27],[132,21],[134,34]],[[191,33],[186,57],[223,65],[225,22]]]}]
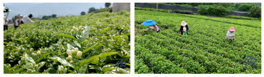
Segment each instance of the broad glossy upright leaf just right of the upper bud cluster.
[{"label": "broad glossy upright leaf just right of the upper bud cluster", "polygon": [[[82,28],[84,29],[80,34],[80,31],[76,34],[77,39],[80,39],[80,41],[84,41],[90,34],[90,27],[89,26],[82,26]],[[80,38],[79,38],[80,36]]]}]

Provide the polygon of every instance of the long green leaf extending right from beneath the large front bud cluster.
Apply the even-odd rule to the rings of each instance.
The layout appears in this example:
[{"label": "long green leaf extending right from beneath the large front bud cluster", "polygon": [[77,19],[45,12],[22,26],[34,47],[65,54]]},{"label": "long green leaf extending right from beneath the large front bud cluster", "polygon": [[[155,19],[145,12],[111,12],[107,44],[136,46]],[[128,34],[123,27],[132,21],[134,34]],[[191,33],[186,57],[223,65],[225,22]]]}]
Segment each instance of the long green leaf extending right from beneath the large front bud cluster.
[{"label": "long green leaf extending right from beneath the large front bud cluster", "polygon": [[86,63],[90,63],[92,62],[95,58],[98,58],[99,56],[92,56],[84,61],[78,62],[75,66],[75,69],[79,69],[80,67],[82,67],[84,64]]}]

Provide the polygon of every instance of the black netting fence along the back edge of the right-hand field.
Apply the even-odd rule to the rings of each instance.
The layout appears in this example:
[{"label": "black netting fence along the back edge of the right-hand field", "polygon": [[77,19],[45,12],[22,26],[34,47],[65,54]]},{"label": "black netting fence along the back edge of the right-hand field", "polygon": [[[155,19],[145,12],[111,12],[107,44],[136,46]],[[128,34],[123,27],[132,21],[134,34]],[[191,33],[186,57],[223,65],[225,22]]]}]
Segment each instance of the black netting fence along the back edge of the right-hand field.
[{"label": "black netting fence along the back edge of the right-hand field", "polygon": [[[157,4],[135,3],[135,7],[157,8]],[[179,6],[179,5],[158,4],[158,9],[167,9],[167,10],[172,10],[173,13],[185,14],[185,12],[180,12],[180,11],[176,11],[176,10],[187,10],[187,11],[192,11],[193,13],[199,13],[198,10],[200,8],[186,7],[186,6]],[[229,15],[232,15],[232,16],[247,16],[248,13],[249,12],[231,11],[230,14],[226,14],[225,16],[229,16]]]}]

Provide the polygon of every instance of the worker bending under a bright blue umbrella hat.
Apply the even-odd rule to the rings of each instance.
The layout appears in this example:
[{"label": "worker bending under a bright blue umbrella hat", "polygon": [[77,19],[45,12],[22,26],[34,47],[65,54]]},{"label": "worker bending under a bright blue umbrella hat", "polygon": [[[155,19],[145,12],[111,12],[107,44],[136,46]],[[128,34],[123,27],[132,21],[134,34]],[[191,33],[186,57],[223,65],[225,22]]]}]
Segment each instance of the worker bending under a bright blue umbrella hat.
[{"label": "worker bending under a bright blue umbrella hat", "polygon": [[159,32],[159,28],[156,25],[157,22],[153,21],[153,20],[146,20],[145,22],[143,22],[143,25],[148,26],[148,29],[146,29],[144,32],[152,29],[154,32],[156,31],[157,33]]}]

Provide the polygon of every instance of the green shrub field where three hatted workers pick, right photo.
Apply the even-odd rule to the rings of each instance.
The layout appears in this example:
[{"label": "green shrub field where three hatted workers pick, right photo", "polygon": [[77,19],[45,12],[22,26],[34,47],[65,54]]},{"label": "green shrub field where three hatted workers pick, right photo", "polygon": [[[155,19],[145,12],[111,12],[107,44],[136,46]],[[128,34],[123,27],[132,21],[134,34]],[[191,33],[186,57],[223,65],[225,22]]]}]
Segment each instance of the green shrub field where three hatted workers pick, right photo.
[{"label": "green shrub field where three hatted workers pick, right photo", "polygon": [[[159,33],[144,32],[148,19]],[[180,34],[182,21],[188,36]],[[234,41],[225,39],[232,26]],[[243,64],[250,56],[256,61]],[[135,10],[135,73],[261,73],[261,21]]]}]

